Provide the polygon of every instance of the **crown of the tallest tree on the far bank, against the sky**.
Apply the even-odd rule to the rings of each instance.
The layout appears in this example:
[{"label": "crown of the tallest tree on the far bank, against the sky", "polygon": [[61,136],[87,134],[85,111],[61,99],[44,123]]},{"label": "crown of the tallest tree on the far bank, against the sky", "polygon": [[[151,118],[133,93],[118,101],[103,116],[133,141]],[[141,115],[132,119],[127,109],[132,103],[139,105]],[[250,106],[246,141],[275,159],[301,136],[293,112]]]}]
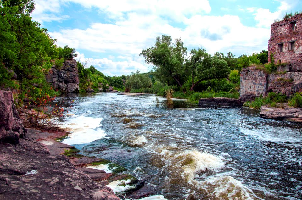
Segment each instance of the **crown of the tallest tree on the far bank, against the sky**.
[{"label": "crown of the tallest tree on the far bank, against the sky", "polygon": [[159,80],[169,83],[172,78],[182,88],[187,74],[183,66],[187,48],[180,38],[172,42],[171,36],[157,37],[155,46],[143,49],[140,55],[147,64],[153,65],[154,75]]}]

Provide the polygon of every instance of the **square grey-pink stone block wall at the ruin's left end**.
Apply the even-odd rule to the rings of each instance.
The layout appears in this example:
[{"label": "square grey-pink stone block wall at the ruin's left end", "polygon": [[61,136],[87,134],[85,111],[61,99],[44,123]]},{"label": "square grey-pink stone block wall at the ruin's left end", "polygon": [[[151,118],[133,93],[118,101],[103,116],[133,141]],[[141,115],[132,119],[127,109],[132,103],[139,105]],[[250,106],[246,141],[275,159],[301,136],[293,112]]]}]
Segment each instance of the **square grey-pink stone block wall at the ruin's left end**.
[{"label": "square grey-pink stone block wall at the ruin's left end", "polygon": [[266,96],[267,74],[254,66],[243,68],[240,72],[240,97],[244,94]]}]

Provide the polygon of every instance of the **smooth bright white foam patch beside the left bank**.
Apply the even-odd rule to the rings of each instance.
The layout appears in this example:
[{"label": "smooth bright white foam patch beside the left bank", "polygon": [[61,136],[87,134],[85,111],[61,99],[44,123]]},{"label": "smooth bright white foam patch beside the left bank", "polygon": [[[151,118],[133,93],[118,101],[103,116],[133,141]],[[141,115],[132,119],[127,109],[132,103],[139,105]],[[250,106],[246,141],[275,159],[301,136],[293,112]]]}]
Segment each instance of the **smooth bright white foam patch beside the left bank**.
[{"label": "smooth bright white foam patch beside the left bank", "polygon": [[103,138],[107,134],[99,128],[101,121],[102,118],[87,117],[85,114],[68,118],[61,127],[71,134],[62,142],[68,145],[86,144]]}]

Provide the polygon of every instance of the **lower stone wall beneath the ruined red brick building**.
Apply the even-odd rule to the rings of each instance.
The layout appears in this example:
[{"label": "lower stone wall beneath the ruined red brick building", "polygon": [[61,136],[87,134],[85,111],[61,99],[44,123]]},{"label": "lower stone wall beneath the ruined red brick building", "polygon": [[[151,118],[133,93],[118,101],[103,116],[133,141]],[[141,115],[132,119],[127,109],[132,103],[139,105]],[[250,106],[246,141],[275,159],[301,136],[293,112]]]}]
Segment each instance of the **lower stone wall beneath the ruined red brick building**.
[{"label": "lower stone wall beneath the ruined red brick building", "polygon": [[254,66],[240,72],[240,97],[244,94],[266,96],[268,92],[281,92],[287,96],[302,92],[302,72],[266,74]]}]

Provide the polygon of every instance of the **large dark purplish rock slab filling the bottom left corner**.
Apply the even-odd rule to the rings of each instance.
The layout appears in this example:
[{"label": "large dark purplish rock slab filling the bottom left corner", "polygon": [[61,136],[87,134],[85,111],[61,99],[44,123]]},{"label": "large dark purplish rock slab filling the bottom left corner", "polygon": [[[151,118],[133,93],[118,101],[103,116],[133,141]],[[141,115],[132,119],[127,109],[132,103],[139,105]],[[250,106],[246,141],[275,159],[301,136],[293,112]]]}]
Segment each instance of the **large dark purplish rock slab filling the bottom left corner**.
[{"label": "large dark purplish rock slab filling the bottom left corner", "polygon": [[119,199],[38,142],[0,144],[0,199]]}]

